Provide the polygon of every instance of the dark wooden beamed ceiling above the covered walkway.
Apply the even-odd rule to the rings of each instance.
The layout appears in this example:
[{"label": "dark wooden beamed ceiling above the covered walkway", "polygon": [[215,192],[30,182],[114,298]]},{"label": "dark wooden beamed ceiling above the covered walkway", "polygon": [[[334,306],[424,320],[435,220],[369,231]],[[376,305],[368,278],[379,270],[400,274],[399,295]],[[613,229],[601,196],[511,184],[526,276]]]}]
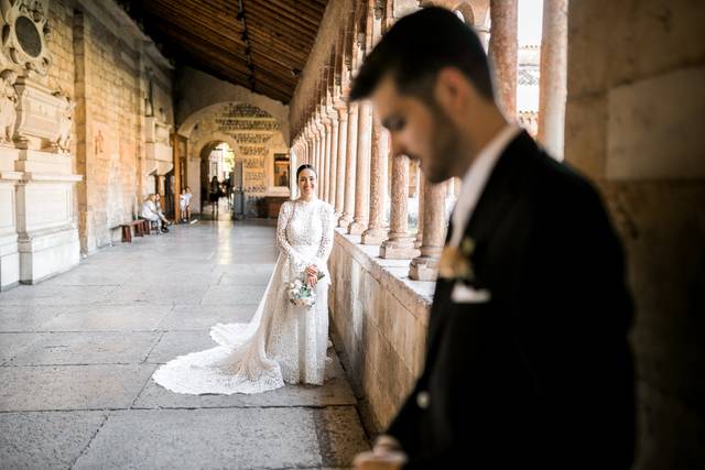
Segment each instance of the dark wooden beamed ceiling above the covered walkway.
[{"label": "dark wooden beamed ceiling above the covered walkway", "polygon": [[327,0],[130,0],[177,62],[289,103]]}]

